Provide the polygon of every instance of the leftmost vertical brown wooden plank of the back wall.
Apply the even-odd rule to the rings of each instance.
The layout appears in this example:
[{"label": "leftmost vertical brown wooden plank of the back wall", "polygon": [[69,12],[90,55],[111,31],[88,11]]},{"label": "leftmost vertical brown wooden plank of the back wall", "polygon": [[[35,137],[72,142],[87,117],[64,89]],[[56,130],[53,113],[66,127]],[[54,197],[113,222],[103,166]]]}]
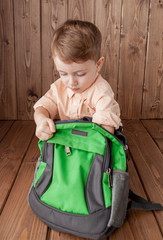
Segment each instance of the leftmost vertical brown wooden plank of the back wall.
[{"label": "leftmost vertical brown wooden plank of the back wall", "polygon": [[0,119],[17,119],[13,1],[0,1]]}]

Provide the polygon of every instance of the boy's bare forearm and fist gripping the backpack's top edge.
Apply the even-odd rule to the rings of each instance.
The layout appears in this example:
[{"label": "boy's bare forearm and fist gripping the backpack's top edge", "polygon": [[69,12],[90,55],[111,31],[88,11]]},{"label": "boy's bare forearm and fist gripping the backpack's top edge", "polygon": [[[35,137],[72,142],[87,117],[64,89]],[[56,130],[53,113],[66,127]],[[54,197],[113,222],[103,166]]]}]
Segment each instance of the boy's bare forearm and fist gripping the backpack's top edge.
[{"label": "boy's bare forearm and fist gripping the backpack's top edge", "polygon": [[34,112],[34,120],[36,123],[36,136],[39,139],[45,141],[53,136],[53,133],[56,131],[55,124],[45,108],[36,108]]}]

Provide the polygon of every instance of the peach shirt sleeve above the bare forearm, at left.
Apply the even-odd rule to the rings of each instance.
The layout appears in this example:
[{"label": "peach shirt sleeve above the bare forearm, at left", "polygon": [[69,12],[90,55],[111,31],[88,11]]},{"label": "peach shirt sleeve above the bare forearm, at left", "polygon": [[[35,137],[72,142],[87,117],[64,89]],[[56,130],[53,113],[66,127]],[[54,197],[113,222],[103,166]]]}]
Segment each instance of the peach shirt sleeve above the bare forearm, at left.
[{"label": "peach shirt sleeve above the bare forearm, at left", "polygon": [[34,110],[36,110],[38,107],[45,108],[49,112],[50,118],[55,119],[58,113],[57,90],[55,83],[51,84],[50,89],[33,106]]}]

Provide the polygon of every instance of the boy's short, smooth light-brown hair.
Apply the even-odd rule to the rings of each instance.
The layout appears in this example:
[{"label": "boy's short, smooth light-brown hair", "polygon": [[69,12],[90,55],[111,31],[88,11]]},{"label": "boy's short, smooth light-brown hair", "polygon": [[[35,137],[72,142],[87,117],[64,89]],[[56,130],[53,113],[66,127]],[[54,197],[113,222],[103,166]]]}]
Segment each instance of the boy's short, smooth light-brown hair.
[{"label": "boy's short, smooth light-brown hair", "polygon": [[101,33],[91,22],[67,20],[54,33],[51,50],[64,62],[97,61],[101,55]]}]

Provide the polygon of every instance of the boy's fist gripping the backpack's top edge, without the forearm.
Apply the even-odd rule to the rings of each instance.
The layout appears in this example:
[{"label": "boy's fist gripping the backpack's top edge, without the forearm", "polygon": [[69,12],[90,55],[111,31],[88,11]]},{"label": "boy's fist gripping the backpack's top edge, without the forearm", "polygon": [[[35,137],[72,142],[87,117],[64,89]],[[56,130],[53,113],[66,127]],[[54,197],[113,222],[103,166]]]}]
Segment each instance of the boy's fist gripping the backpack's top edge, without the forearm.
[{"label": "boy's fist gripping the backpack's top edge, without the forearm", "polygon": [[36,136],[42,140],[48,140],[56,132],[55,124],[52,119],[44,117],[37,122],[36,125]]}]

